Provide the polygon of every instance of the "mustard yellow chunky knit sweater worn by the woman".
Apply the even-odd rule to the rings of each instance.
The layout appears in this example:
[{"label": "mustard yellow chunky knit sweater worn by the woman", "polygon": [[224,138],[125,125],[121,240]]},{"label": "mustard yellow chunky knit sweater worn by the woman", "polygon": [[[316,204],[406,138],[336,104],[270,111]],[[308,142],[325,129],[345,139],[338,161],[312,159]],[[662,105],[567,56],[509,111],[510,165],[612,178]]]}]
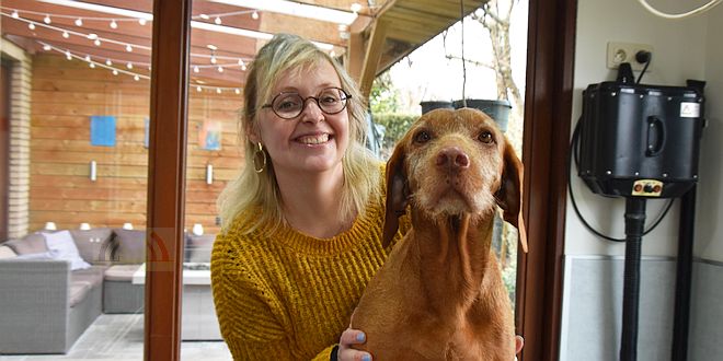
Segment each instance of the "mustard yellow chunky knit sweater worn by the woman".
[{"label": "mustard yellow chunky knit sweater worn by the woman", "polygon": [[263,228],[244,235],[254,216],[242,213],[216,238],[211,255],[216,313],[233,359],[329,360],[387,258],[380,240],[383,197],[330,240],[290,228],[273,236]]}]

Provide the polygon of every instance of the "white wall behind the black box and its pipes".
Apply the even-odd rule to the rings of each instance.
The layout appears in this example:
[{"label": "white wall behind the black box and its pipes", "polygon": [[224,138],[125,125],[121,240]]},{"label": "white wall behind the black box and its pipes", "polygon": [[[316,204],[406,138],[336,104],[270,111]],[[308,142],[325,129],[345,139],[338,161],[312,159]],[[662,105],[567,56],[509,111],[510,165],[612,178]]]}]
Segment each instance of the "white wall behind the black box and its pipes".
[{"label": "white wall behind the black box and its pipes", "polygon": [[[649,0],[667,12],[689,10],[708,0]],[[664,20],[636,0],[578,0],[575,40],[573,127],[582,113],[582,92],[590,83],[615,80],[606,68],[607,43],[653,46],[652,72],[643,83],[685,85],[704,80],[705,116],[699,162],[689,360],[723,354],[723,5],[687,20]],[[635,73],[638,75],[638,73]],[[605,234],[623,238],[624,200],[593,194],[577,177],[573,189],[586,220]],[[654,219],[664,200],[647,201]],[[639,318],[639,360],[670,354],[675,270],[678,246],[677,202],[664,222],[643,237]],[[565,276],[560,360],[613,360],[620,347],[624,244],[597,238],[567,203]]]}]

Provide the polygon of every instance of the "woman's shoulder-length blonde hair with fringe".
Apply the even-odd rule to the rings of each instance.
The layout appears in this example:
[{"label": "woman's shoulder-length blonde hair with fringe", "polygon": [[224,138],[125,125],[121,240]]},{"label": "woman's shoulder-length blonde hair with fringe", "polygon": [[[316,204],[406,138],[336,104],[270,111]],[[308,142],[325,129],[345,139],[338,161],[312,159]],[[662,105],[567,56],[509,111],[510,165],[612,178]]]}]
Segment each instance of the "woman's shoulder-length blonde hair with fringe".
[{"label": "woman's shoulder-length blonde hair with fringe", "polygon": [[282,211],[282,199],[274,175],[273,162],[267,158],[263,172],[254,171],[256,144],[248,138],[248,131],[257,128],[256,112],[268,102],[273,85],[288,70],[299,70],[328,61],[341,80],[342,89],[352,97],[346,103],[349,118],[349,145],[342,159],[344,186],[341,195],[342,214],[351,217],[364,213],[369,197],[379,191],[379,161],[367,150],[366,141],[366,103],[354,80],[331,56],[319,49],[311,42],[296,35],[278,34],[264,45],[249,67],[249,74],[243,91],[244,107],[239,120],[239,136],[245,144],[244,164],[239,176],[229,182],[219,195],[217,206],[221,216],[221,230],[226,232],[233,220],[244,210],[259,207],[259,217],[242,230],[250,233],[262,224],[272,230],[286,224]]}]

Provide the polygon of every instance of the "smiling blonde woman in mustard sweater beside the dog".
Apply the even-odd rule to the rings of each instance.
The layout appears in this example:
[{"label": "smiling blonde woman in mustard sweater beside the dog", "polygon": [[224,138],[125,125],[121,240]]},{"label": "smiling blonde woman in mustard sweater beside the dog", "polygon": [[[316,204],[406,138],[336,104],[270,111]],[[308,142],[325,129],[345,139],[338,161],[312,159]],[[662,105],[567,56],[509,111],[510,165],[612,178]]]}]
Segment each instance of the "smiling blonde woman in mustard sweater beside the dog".
[{"label": "smiling blonde woman in mustard sweater beside the dog", "polygon": [[365,105],[328,54],[277,35],[251,63],[245,164],[219,197],[211,257],[221,333],[238,360],[370,357],[340,335],[385,260],[382,165],[365,149]]}]

